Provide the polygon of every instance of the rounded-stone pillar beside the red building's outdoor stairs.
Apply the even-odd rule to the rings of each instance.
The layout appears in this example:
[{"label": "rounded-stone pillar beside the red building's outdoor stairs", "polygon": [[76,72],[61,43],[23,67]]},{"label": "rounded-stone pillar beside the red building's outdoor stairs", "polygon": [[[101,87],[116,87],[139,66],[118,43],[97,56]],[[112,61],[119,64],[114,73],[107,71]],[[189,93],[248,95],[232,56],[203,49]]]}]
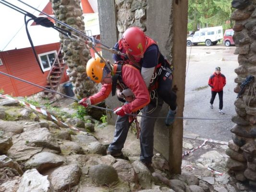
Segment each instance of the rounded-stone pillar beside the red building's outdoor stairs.
[{"label": "rounded-stone pillar beside the red building's outdoor stairs", "polygon": [[[83,11],[80,0],[50,0],[56,19],[68,24],[74,29],[85,32]],[[65,28],[59,23],[57,26]],[[67,29],[67,28],[65,28]],[[70,29],[72,34],[79,36]],[[85,64],[91,58],[89,47],[85,43],[68,38],[60,34],[62,54],[68,65],[69,79],[73,84],[73,92],[78,97],[90,96],[96,92],[95,85],[88,80],[85,73]]]}]

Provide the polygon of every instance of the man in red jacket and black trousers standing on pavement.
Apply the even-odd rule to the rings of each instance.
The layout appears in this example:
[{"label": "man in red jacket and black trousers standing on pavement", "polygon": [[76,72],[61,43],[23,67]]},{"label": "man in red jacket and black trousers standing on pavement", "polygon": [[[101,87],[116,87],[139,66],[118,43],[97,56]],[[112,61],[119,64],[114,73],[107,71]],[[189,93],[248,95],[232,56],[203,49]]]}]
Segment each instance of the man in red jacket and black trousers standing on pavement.
[{"label": "man in red jacket and black trousers standing on pavement", "polygon": [[208,85],[211,87],[210,108],[213,108],[215,96],[219,95],[219,113],[225,114],[223,108],[223,87],[226,84],[226,77],[220,72],[220,67],[215,68],[215,72],[210,76]]}]

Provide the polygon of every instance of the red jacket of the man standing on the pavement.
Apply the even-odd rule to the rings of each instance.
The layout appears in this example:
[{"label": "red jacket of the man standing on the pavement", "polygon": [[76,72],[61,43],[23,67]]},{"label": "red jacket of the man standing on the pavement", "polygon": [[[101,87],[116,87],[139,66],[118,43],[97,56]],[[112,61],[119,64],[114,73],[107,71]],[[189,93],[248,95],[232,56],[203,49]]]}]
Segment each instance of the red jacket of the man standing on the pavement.
[{"label": "red jacket of the man standing on the pavement", "polygon": [[223,90],[223,87],[226,84],[225,75],[219,73],[218,75],[214,72],[208,81],[208,85],[211,87],[212,91],[219,92]]}]

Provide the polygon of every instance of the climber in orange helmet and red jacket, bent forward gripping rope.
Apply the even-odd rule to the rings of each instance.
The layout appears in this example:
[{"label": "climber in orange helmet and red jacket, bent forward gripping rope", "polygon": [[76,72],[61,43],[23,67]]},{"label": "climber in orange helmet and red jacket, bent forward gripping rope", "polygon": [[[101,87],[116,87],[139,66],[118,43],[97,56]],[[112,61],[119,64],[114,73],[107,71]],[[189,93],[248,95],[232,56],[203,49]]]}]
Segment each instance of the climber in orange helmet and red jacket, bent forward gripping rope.
[{"label": "climber in orange helmet and red jacket, bent forward gripping rope", "polygon": [[[112,67],[111,70],[110,67]],[[150,102],[146,84],[140,71],[129,64],[128,60],[108,67],[100,58],[92,58],[86,64],[86,73],[92,81],[101,83],[102,87],[97,94],[80,100],[80,105],[84,107],[95,105],[105,100],[110,95],[111,90],[112,93],[120,90],[122,96],[127,101],[122,107],[114,109],[114,114],[117,114],[118,117],[115,125],[114,139],[107,150],[108,155],[122,156],[122,148],[130,127],[129,116],[125,114],[136,112]],[[114,83],[115,77],[117,77],[117,81]],[[124,90],[128,88],[133,92],[133,96],[125,94]]]}]

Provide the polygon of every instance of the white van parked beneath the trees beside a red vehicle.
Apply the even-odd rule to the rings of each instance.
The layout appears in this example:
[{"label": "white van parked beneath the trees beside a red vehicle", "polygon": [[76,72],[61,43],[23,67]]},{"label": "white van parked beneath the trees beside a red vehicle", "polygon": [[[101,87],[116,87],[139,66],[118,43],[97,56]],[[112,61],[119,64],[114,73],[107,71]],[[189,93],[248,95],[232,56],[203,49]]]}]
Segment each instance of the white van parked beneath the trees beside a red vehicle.
[{"label": "white van parked beneath the trees beside a red vehicle", "polygon": [[187,37],[187,46],[205,43],[206,46],[216,45],[223,38],[222,26],[201,28],[193,36]]}]

